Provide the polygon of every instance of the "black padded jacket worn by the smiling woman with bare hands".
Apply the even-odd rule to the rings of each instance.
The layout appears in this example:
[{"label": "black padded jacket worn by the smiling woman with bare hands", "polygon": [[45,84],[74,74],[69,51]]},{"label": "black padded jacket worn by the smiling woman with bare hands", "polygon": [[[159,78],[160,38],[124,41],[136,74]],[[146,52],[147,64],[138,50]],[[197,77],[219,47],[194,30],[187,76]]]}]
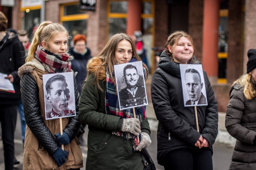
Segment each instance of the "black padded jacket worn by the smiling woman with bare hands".
[{"label": "black padded jacket worn by the smiling woman with bare hands", "polygon": [[152,102],[159,120],[157,160],[160,165],[165,155],[172,150],[199,149],[195,143],[200,134],[209,142],[209,149],[212,151],[212,145],[218,134],[217,102],[207,74],[205,72],[203,74],[208,106],[197,107],[199,133],[196,130],[194,107],[184,107],[180,65],[171,62],[166,52],[162,52],[159,68],[154,72],[151,83]]}]

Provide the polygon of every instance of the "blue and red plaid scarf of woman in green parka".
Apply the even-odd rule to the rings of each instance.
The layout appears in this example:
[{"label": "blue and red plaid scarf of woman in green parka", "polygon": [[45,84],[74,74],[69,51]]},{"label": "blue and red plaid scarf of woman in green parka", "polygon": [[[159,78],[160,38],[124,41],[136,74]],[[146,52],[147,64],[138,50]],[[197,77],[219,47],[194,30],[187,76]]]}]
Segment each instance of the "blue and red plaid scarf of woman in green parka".
[{"label": "blue and red plaid scarf of woman in green parka", "polygon": [[[137,61],[135,57],[131,59],[130,62]],[[135,109],[136,118],[143,122],[146,119],[146,106],[136,107]],[[119,109],[119,103],[117,98],[116,86],[111,80],[111,77],[106,68],[106,89],[105,89],[105,111],[107,114],[115,115],[121,117],[122,119],[133,118],[132,108],[126,110]],[[120,136],[123,139],[131,139],[132,147],[136,150],[136,147],[139,145],[137,136],[133,135],[130,132],[121,132],[113,131],[113,135]]]}]

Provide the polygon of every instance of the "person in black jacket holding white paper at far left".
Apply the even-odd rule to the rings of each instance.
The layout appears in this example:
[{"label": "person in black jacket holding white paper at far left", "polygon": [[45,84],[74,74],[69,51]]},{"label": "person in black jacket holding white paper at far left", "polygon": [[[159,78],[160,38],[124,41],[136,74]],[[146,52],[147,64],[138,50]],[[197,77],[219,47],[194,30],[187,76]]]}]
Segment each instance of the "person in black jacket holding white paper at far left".
[{"label": "person in black jacket holding white paper at far left", "polygon": [[17,163],[14,158],[14,132],[21,98],[18,68],[25,63],[23,56],[25,52],[18,36],[13,32],[6,32],[7,22],[6,16],[0,12],[0,73],[7,75],[5,79],[13,83],[15,90],[15,92],[0,90],[0,124],[5,170],[12,170],[14,163]]}]

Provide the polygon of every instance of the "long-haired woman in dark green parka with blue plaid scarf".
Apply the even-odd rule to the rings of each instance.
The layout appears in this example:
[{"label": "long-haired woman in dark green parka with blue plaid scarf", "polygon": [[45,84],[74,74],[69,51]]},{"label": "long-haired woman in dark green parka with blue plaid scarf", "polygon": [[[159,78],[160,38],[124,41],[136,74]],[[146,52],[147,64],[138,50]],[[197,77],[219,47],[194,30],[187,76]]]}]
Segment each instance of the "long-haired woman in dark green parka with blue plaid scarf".
[{"label": "long-haired woman in dark green parka with blue plaid scarf", "polygon": [[139,149],[151,144],[146,107],[135,108],[136,118],[132,109],[119,110],[114,73],[115,64],[135,61],[140,58],[131,38],[120,33],[110,38],[88,66],[79,108],[79,118],[89,128],[86,169],[143,169]]}]

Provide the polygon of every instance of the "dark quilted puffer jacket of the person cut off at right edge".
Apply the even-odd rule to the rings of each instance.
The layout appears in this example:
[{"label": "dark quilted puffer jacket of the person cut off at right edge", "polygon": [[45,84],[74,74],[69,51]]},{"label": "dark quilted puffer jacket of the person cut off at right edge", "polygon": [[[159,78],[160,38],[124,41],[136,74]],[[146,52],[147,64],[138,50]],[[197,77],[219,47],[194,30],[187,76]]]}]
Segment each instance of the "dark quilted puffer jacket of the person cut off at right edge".
[{"label": "dark quilted puffer jacket of the person cut off at right edge", "polygon": [[225,126],[228,133],[237,139],[230,170],[256,169],[256,98],[245,98],[240,83],[230,88],[230,101],[226,111]]}]

